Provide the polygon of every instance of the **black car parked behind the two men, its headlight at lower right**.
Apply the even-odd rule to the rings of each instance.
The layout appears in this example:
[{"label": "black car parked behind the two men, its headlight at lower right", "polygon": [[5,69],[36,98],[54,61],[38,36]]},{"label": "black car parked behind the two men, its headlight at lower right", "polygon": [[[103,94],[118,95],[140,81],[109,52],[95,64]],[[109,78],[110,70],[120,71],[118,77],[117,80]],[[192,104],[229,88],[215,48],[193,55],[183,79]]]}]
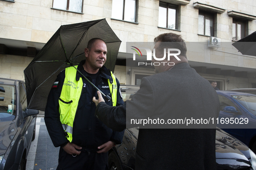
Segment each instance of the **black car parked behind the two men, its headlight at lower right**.
[{"label": "black car parked behind the two men, its headlight at lower right", "polygon": [[[138,89],[135,85],[121,85],[123,100],[130,99]],[[109,151],[110,170],[134,170],[138,133],[139,128],[125,129],[123,142]],[[217,170],[256,170],[253,151],[219,128],[216,128],[215,151]]]}]

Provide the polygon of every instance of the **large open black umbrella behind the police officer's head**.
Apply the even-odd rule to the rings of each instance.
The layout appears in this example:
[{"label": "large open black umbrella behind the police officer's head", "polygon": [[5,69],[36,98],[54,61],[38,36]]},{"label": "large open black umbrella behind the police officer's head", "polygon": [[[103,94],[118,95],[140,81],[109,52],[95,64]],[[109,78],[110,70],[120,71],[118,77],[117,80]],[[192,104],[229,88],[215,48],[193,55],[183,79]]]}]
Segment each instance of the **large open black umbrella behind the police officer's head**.
[{"label": "large open black umbrella behind the police officer's head", "polygon": [[114,70],[121,41],[106,19],[62,25],[24,70],[28,108],[45,110],[57,75],[85,59],[84,48],[91,38],[105,41],[107,61],[104,66]]}]

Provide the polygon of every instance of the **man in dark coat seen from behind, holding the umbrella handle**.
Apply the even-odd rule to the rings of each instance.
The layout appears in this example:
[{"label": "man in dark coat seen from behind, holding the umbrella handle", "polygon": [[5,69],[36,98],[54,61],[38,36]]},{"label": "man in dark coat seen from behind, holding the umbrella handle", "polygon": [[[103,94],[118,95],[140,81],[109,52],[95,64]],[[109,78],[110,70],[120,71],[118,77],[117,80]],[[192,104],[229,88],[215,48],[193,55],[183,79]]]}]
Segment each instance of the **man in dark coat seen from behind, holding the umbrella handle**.
[{"label": "man in dark coat seen from behind, holding the umbrella handle", "polygon": [[[211,84],[192,69],[186,58],[186,45],[180,35],[166,33],[159,35],[156,42],[156,57],[162,58],[165,45],[162,42],[178,42],[175,48],[181,50],[167,64],[155,66],[153,76],[144,77],[139,91],[123,106],[109,107],[102,98],[93,99],[96,115],[108,127],[122,130],[125,126],[139,126],[136,148],[136,170],[215,170],[215,125],[176,126],[173,124],[154,126],[132,124],[131,119],[178,119],[200,117],[216,118],[219,113],[219,99]],[[169,47],[173,48],[173,47]],[[154,62],[155,59],[152,60]],[[179,129],[175,129],[175,128]],[[191,127],[191,129],[190,129]],[[201,127],[201,129],[194,129]],[[207,127],[208,129],[203,129]]]}]

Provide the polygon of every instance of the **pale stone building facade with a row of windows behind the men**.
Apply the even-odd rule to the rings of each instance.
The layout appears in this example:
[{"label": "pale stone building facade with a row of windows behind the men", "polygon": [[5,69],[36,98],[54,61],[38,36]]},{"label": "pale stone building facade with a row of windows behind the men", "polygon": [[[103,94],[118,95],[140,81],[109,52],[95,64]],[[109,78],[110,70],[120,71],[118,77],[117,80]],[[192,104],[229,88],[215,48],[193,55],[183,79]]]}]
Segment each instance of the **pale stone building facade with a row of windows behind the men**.
[{"label": "pale stone building facade with a row of windows behind the men", "polygon": [[256,31],[255,0],[0,0],[0,77],[24,80],[61,25],[103,18],[122,41],[114,71],[121,84],[154,74],[127,62],[126,42],[173,32],[188,42],[191,67],[219,89],[256,88],[256,57],[231,45]]}]

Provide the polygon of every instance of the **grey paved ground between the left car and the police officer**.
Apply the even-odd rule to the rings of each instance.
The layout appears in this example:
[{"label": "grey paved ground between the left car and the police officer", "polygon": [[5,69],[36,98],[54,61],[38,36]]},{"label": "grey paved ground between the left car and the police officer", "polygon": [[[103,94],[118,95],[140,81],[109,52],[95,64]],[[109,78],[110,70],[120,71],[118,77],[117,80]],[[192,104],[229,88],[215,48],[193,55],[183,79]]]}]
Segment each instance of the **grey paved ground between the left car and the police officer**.
[{"label": "grey paved ground between the left car and the police officer", "polygon": [[36,118],[36,139],[32,141],[27,157],[26,170],[56,170],[59,147],[55,148],[43,117]]}]

